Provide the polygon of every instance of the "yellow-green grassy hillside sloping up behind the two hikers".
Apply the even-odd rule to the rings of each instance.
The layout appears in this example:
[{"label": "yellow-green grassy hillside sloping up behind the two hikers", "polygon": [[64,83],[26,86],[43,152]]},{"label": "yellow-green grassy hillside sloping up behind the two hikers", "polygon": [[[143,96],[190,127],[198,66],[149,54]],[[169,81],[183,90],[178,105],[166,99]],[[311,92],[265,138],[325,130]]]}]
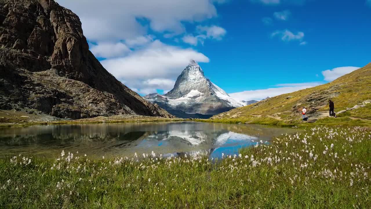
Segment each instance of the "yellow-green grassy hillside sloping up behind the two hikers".
[{"label": "yellow-green grassy hillside sloping up behind the two hikers", "polygon": [[357,119],[359,121],[356,123],[359,125],[370,123],[370,105],[348,111],[342,114],[341,118],[325,118],[328,115],[329,99],[335,103],[335,112],[371,99],[371,63],[331,83],[271,97],[256,104],[221,113],[209,121],[292,125],[302,123],[301,110],[305,106],[309,119],[319,119],[317,123],[348,123]]}]

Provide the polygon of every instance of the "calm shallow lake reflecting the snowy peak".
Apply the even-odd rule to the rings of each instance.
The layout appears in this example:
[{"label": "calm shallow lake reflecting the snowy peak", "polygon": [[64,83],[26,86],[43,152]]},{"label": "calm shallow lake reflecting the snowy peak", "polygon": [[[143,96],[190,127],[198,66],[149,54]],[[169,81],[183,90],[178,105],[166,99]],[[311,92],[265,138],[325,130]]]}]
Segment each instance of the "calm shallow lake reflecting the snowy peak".
[{"label": "calm shallow lake reflecting the snowy peak", "polygon": [[238,154],[238,149],[269,142],[288,128],[201,122],[37,125],[0,128],[0,157],[16,154],[57,156],[62,150],[95,157],[142,153],[180,156]]}]

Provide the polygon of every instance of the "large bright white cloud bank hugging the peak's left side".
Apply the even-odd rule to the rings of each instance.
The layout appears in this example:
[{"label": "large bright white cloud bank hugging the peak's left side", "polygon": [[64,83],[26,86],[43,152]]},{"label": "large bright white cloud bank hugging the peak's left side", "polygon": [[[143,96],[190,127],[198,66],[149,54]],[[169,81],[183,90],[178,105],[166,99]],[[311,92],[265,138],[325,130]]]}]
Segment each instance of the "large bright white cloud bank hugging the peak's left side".
[{"label": "large bright white cloud bank hugging the peak's left side", "polygon": [[101,61],[112,75],[139,93],[156,89],[172,89],[175,79],[193,59],[209,62],[204,54],[191,48],[170,46],[155,40],[147,47],[131,52],[126,57]]}]

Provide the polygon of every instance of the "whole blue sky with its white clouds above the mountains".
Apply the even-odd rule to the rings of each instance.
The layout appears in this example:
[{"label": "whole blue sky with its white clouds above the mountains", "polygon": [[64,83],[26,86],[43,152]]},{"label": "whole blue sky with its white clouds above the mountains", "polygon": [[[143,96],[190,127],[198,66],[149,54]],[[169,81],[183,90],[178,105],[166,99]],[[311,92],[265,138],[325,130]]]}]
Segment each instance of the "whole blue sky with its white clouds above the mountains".
[{"label": "whole blue sky with its white clouds above the mountains", "polygon": [[57,1],[79,15],[102,65],[141,95],[170,90],[190,59],[239,100],[371,62],[370,0]]}]

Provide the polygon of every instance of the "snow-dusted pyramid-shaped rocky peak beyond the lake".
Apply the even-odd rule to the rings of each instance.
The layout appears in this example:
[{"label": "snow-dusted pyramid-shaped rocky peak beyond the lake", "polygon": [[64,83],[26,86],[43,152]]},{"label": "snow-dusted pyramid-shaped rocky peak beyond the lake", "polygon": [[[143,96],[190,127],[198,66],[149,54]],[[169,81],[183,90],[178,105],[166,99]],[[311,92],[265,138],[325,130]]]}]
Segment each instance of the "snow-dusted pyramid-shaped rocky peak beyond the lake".
[{"label": "snow-dusted pyramid-shaped rocky peak beyond the lake", "polygon": [[209,118],[244,106],[207,79],[194,60],[178,76],[171,91],[164,95],[148,94],[144,98],[181,118]]}]

